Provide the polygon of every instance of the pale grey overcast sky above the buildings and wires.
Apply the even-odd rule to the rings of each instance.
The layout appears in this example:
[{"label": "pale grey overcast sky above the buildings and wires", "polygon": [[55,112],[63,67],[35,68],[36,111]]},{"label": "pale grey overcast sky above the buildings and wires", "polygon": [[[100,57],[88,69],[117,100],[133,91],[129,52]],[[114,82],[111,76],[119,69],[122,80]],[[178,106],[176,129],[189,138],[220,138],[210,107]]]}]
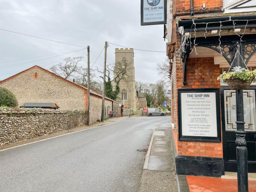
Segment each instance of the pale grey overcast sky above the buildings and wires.
[{"label": "pale grey overcast sky above the buildings and wires", "polygon": [[[105,41],[136,49],[165,51],[163,25],[140,26],[140,0],[0,0],[0,18],[0,29],[68,44],[90,45],[91,65]],[[108,47],[109,63],[114,61],[115,48],[118,46],[110,44]],[[1,80],[34,65],[49,69],[68,56],[87,57],[84,50],[63,53],[82,49],[78,46],[3,30],[0,30],[0,49]],[[94,67],[103,69],[103,53]],[[157,63],[165,60],[165,53],[134,50],[134,56],[136,80],[153,83],[161,79],[156,68]],[[30,57],[38,58],[27,59]],[[49,57],[53,58],[47,59]],[[87,66],[86,59],[80,65]]]}]

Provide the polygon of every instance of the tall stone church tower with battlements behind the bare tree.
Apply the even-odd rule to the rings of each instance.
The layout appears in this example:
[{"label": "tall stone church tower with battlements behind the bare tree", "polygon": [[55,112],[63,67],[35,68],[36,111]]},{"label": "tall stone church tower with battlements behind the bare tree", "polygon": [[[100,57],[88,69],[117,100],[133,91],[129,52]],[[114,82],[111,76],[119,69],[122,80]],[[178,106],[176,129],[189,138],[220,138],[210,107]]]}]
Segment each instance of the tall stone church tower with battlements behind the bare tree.
[{"label": "tall stone church tower with battlements behind the bare tree", "polygon": [[[137,108],[137,93],[135,88],[135,69],[134,69],[134,53],[133,49],[116,49],[115,63],[128,63],[127,78],[119,83],[120,93],[117,97],[117,102],[122,103],[128,109]],[[116,74],[114,74],[115,76]],[[116,84],[113,84],[115,89]]]}]

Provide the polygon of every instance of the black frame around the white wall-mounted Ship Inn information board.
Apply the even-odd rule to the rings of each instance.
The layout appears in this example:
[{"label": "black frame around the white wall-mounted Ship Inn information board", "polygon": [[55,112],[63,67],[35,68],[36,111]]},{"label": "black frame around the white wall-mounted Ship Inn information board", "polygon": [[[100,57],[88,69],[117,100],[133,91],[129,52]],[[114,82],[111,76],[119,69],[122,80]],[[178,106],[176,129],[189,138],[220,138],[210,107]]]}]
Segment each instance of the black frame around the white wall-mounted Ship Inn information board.
[{"label": "black frame around the white wall-mounted Ship Inn information board", "polygon": [[[181,113],[181,93],[215,93],[216,95],[216,117],[217,117],[217,137],[204,136],[184,136],[182,135],[182,113]],[[178,89],[178,131],[180,141],[196,142],[221,142],[221,107],[219,99],[219,89],[199,88],[199,89]]]}]

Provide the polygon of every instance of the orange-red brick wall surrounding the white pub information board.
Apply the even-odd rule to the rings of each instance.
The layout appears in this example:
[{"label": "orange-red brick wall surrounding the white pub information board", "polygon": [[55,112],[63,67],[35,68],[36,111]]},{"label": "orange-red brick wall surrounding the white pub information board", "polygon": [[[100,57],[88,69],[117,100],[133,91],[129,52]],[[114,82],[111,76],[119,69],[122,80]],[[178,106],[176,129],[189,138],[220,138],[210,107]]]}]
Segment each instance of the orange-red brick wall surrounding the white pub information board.
[{"label": "orange-red brick wall surrounding the white pub information board", "polygon": [[[178,88],[220,88],[219,65],[214,64],[213,57],[188,59],[187,62],[187,85],[183,82],[183,69],[177,65],[176,84]],[[177,103],[177,95],[174,98]],[[173,109],[178,110],[178,109]],[[174,114],[174,113],[173,113]],[[178,114],[178,113],[176,113]],[[176,116],[178,120],[178,117]],[[174,118],[173,118],[174,120]],[[200,156],[200,157],[223,157],[222,143],[209,142],[181,142],[178,140],[178,121],[176,123],[177,132],[173,130],[174,140],[178,155]]]}]

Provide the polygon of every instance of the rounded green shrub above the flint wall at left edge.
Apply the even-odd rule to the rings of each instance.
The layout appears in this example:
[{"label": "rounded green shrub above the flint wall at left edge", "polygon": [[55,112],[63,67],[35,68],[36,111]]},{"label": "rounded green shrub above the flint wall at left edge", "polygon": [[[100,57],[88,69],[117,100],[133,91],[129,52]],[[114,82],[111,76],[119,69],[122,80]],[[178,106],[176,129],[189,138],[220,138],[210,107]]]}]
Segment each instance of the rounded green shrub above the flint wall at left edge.
[{"label": "rounded green shrub above the flint wall at left edge", "polygon": [[0,106],[16,107],[18,101],[15,95],[8,89],[0,87]]}]

